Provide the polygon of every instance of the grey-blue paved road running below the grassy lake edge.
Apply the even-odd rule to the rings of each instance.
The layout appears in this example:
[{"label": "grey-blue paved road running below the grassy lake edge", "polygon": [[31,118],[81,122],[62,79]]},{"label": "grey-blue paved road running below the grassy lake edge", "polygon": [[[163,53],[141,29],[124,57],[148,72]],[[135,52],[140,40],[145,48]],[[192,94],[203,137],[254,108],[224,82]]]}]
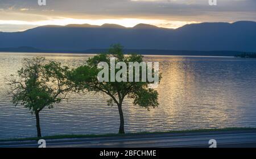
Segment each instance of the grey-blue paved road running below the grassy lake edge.
[{"label": "grey-blue paved road running below the grassy lake edge", "polygon": [[[220,131],[192,133],[163,133],[122,137],[93,137],[84,139],[46,140],[47,148],[171,148],[209,147],[209,140],[217,147],[256,148],[256,131]],[[0,142],[0,148],[36,148],[37,141]]]}]

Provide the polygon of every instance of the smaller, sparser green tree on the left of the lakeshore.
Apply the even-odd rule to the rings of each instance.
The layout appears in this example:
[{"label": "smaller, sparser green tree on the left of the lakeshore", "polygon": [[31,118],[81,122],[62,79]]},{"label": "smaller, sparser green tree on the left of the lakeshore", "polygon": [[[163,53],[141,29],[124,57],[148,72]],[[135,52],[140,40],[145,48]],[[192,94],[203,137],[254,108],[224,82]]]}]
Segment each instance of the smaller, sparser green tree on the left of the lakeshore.
[{"label": "smaller, sparser green tree on the left of the lakeshore", "polygon": [[60,103],[72,89],[67,80],[68,67],[58,62],[45,64],[45,58],[24,58],[18,76],[11,75],[10,85],[12,102],[28,108],[36,116],[38,137],[41,137],[39,113],[44,107],[53,108]]}]

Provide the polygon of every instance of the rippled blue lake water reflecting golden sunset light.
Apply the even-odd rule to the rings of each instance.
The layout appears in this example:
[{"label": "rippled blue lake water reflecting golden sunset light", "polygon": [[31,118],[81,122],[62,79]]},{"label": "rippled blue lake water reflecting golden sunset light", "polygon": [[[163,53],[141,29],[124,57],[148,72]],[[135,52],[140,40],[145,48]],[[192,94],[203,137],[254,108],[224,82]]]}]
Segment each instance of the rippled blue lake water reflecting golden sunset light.
[{"label": "rippled blue lake water reflecting golden sunset light", "polygon": [[[0,53],[0,139],[36,136],[35,117],[7,97],[5,78],[15,74],[29,53]],[[75,67],[88,55],[40,54]],[[147,56],[159,61],[163,79],[160,106],[147,111],[123,103],[126,132],[256,127],[256,60],[233,57]],[[102,94],[69,95],[68,102],[40,114],[42,135],[117,133],[116,106]]]}]

